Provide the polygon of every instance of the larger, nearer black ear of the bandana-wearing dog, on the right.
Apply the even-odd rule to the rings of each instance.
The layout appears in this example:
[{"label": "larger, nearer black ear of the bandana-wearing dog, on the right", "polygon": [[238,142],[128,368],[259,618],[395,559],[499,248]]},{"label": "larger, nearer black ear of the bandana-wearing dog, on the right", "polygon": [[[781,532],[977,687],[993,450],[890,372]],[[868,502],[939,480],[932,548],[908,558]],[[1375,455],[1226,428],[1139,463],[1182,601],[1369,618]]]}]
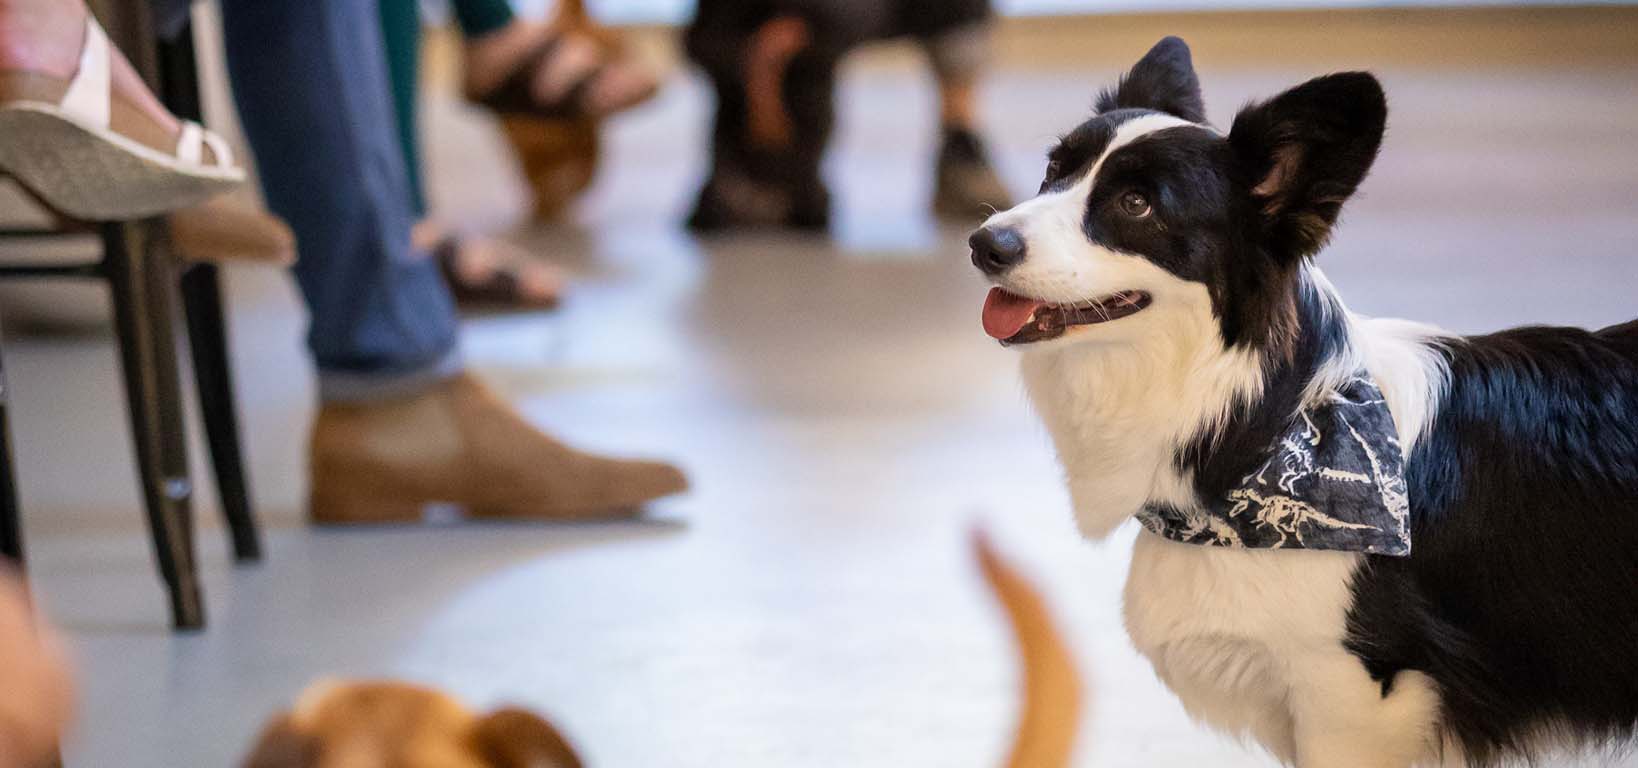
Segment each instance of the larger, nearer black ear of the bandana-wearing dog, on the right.
[{"label": "larger, nearer black ear of the bandana-wearing dog, on the right", "polygon": [[1281,255],[1314,255],[1382,146],[1387,98],[1369,72],[1315,77],[1233,120],[1228,142]]}]

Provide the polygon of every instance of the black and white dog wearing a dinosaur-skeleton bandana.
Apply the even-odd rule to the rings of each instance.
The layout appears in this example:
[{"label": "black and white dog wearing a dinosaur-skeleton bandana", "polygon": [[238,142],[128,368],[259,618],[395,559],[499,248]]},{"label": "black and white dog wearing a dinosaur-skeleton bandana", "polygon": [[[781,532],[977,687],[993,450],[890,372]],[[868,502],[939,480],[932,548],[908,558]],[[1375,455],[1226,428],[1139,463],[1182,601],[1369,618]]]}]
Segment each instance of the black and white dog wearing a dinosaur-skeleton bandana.
[{"label": "black and white dog wearing a dinosaur-skeleton bandana", "polygon": [[1309,766],[1495,765],[1638,729],[1638,323],[1458,337],[1310,262],[1371,169],[1363,72],[1206,124],[1156,44],[971,237],[1076,521],[1143,524],[1133,644]]}]

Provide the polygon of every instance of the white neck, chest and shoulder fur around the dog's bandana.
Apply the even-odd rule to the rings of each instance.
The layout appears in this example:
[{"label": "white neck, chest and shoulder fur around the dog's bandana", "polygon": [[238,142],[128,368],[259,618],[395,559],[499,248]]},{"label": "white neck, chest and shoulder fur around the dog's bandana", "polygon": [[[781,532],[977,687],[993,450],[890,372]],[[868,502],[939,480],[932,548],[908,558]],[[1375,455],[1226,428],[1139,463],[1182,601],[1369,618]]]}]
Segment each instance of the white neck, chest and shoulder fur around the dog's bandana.
[{"label": "white neck, chest and shoulder fur around the dog's bandana", "polygon": [[[1161,344],[1025,355],[1025,385],[1086,535],[1107,535],[1145,503],[1197,504],[1191,478],[1173,463],[1176,447],[1260,395],[1255,360],[1220,344],[1191,346],[1215,342],[1214,329],[1184,328],[1196,323],[1209,318],[1178,313],[1166,323],[1178,328],[1150,329],[1165,334]],[[1351,354],[1322,373],[1368,368],[1409,452],[1445,386],[1427,344],[1433,331],[1396,321],[1350,326]],[[1143,531],[1125,588],[1127,632],[1194,717],[1248,735],[1287,763],[1320,765],[1302,758],[1319,750],[1369,757],[1358,765],[1412,765],[1433,742],[1437,698],[1414,673],[1382,698],[1343,648],[1360,563],[1345,552],[1212,549]]]}]

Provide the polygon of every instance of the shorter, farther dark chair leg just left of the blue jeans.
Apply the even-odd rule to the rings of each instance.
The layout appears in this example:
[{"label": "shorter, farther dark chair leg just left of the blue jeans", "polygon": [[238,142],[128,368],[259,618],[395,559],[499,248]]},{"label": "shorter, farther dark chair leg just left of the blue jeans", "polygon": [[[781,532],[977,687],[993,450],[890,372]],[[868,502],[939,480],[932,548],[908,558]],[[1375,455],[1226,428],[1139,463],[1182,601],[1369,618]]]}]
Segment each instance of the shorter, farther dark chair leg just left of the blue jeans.
[{"label": "shorter, farther dark chair leg just left of the blue jeans", "polygon": [[195,264],[182,273],[182,306],[187,309],[188,344],[193,350],[193,383],[205,414],[216,491],[228,522],[233,558],[247,563],[262,558],[262,542],[251,514],[251,491],[239,452],[239,418],[234,413],[233,372],[228,362],[226,318],[221,306],[221,278],[215,264]]}]

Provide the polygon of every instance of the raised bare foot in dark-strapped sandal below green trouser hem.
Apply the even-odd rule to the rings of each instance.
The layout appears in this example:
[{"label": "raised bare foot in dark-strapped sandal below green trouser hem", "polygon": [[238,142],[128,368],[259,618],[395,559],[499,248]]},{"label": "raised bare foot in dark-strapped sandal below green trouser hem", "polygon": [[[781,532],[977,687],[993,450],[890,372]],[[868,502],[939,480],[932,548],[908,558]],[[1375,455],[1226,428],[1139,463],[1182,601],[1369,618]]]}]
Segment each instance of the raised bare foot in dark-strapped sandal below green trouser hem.
[{"label": "raised bare foot in dark-strapped sandal below green trouser hem", "polygon": [[498,31],[467,41],[467,93],[480,98],[495,92],[513,77],[524,57],[554,34],[560,34],[562,41],[539,64],[531,80],[531,95],[536,102],[559,103],[577,84],[591,77],[578,97],[581,100],[578,108],[588,116],[606,116],[642,102],[654,92],[655,79],[650,72],[590,31],[516,20]]}]

